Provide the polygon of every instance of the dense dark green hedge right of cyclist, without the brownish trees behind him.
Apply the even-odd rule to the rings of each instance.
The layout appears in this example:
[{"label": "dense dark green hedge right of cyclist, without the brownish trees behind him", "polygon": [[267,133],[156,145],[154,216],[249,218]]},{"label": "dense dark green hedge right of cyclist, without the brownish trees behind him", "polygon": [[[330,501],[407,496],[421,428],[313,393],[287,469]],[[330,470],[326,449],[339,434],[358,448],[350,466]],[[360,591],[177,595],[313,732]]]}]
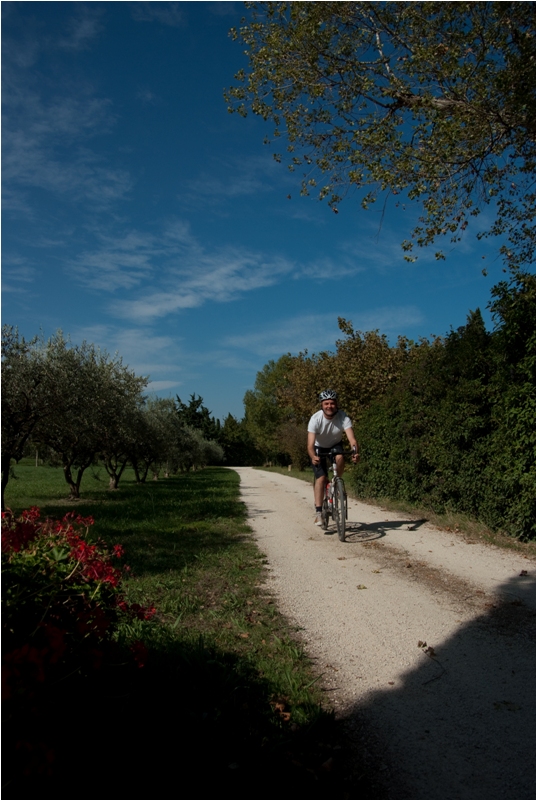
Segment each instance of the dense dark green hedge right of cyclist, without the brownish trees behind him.
[{"label": "dense dark green hedge right of cyclist, without the brownish trees behind him", "polygon": [[399,380],[356,424],[362,496],[472,514],[536,537],[536,276],[493,290],[496,328],[479,312],[416,348]]}]

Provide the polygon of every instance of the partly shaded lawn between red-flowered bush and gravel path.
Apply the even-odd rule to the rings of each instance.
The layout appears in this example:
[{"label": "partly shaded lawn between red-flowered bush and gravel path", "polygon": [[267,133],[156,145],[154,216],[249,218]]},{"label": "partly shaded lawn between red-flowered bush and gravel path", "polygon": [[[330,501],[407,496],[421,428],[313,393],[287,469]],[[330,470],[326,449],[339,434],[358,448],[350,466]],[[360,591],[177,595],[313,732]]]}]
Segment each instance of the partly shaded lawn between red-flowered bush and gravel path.
[{"label": "partly shaded lawn between red-flowered bush and gravel path", "polygon": [[93,516],[92,535],[125,548],[127,599],[157,611],[117,635],[147,648],[143,668],[116,661],[91,685],[52,687],[48,739],[31,743],[48,752],[48,767],[25,777],[8,770],[7,796],[47,781],[66,795],[87,758],[88,787],[102,784],[107,763],[117,765],[110,791],[168,791],[172,781],[193,783],[182,789],[200,797],[225,788],[240,797],[351,796],[330,769],[339,734],[322,706],[320,676],[263,589],[264,558],[235,472],[145,485],[127,473],[111,492],[104,470],[94,470],[75,502],[64,499],[60,469],[26,462],[15,474],[6,491],[13,511],[37,505],[42,516]]}]

